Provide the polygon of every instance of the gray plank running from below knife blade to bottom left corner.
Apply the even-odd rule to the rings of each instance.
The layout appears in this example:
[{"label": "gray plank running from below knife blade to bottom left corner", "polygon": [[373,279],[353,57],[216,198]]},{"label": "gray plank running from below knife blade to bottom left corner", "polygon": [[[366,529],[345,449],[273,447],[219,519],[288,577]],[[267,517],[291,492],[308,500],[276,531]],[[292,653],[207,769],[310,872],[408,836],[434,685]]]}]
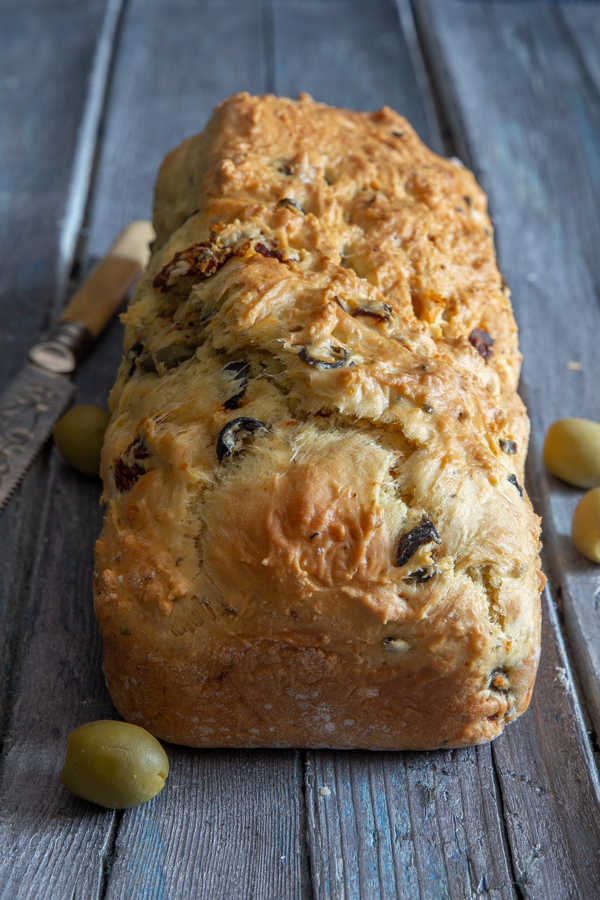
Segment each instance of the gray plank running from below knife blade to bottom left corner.
[{"label": "gray plank running from below knife blade to bottom left corner", "polygon": [[[112,374],[112,373],[111,373]],[[0,776],[0,897],[101,896],[112,811],[62,787],[70,730],[111,718],[92,604],[99,484],[53,451],[44,550],[15,684]]]}]

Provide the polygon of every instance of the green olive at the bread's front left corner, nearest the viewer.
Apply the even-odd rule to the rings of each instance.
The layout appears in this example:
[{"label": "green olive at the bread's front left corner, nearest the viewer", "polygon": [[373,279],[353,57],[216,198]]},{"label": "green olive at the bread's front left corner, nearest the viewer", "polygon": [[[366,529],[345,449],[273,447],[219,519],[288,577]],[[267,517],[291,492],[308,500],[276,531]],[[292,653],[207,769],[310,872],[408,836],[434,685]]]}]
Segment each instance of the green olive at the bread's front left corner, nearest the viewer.
[{"label": "green olive at the bread's front left corner, nearest the viewer", "polygon": [[60,780],[84,800],[128,809],[160,793],[168,774],[167,754],[145,728],[101,719],[71,732]]}]

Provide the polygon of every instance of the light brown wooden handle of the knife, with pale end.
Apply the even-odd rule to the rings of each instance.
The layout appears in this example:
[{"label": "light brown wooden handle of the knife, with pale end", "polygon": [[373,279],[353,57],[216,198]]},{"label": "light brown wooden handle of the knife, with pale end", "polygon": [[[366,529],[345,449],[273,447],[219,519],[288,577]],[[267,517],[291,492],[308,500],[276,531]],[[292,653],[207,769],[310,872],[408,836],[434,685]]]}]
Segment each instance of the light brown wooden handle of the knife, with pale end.
[{"label": "light brown wooden handle of the knife, with pale end", "polygon": [[59,321],[78,322],[96,339],[146,268],[153,240],[150,222],[128,225],[84,281]]}]

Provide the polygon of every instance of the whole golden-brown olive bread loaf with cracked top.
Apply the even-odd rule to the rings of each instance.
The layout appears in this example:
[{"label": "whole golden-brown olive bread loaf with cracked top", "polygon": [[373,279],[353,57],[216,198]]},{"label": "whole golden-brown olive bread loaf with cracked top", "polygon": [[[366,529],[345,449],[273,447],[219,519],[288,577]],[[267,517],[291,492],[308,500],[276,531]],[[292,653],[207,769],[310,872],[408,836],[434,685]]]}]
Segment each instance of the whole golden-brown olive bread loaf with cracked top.
[{"label": "whole golden-brown olive bread loaf with cracked top", "polygon": [[539,520],[486,200],[401,116],[239,94],[166,158],[96,547],[129,721],[431,749],[528,705]]}]

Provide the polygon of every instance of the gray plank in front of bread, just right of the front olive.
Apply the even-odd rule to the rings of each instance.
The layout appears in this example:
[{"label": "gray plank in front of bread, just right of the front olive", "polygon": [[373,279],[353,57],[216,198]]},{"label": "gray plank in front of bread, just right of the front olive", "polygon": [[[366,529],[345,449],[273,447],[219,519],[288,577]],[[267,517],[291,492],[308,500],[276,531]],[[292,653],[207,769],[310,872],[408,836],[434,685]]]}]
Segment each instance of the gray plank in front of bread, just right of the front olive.
[{"label": "gray plank in front of bread, just right of the front olive", "polygon": [[299,752],[167,750],[163,792],[124,813],[106,900],[302,896]]}]

